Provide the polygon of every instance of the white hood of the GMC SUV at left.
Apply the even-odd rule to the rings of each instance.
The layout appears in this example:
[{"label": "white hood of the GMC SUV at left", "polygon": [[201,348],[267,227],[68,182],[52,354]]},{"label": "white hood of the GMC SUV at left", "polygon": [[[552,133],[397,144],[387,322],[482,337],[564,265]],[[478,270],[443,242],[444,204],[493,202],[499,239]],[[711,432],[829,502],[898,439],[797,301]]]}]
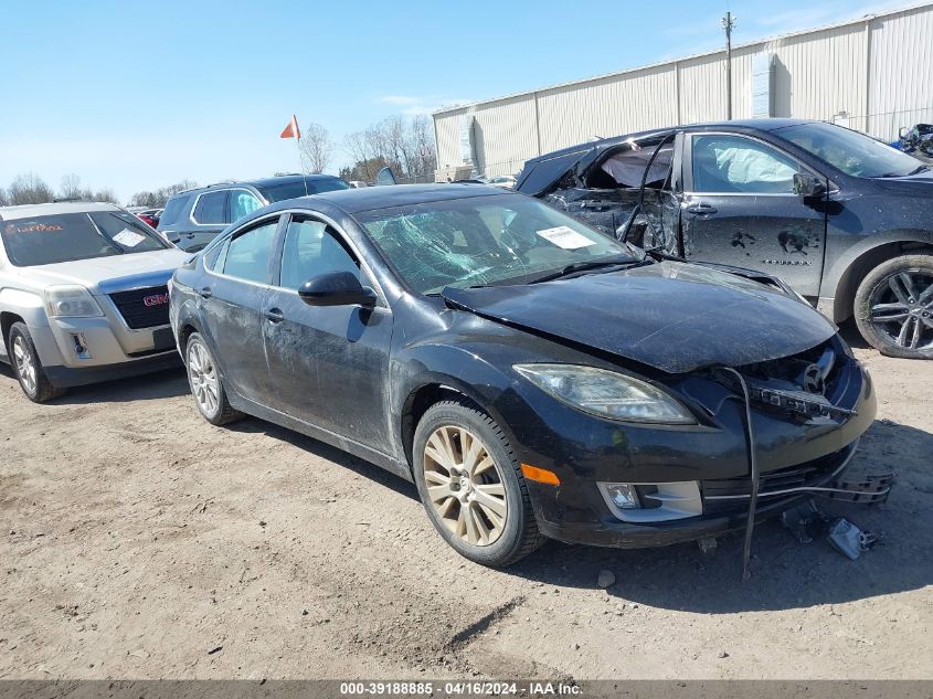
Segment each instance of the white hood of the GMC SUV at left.
[{"label": "white hood of the GMC SUV at left", "polygon": [[[20,274],[32,284],[79,284],[92,294],[107,294],[113,288],[165,284],[191,253],[182,250],[153,250],[148,253],[112,255],[59,262],[53,265],[20,267]],[[134,280],[139,282],[135,284]]]}]

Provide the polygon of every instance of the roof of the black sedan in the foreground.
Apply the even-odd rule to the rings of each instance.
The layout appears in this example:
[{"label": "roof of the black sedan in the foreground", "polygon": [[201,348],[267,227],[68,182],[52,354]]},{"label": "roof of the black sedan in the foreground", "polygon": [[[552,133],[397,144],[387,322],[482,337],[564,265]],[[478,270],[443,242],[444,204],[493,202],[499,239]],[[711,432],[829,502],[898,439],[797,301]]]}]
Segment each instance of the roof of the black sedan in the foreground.
[{"label": "roof of the black sedan in the foreground", "polygon": [[[471,197],[509,195],[509,192],[491,184],[385,184],[382,187],[365,187],[362,189],[341,189],[310,197],[301,197],[287,202],[278,202],[276,206],[289,209],[295,202],[311,200],[326,201],[339,206],[347,213],[361,213],[374,209],[390,206],[407,206],[424,204],[448,199],[468,199]],[[280,204],[288,204],[280,206]]]}]

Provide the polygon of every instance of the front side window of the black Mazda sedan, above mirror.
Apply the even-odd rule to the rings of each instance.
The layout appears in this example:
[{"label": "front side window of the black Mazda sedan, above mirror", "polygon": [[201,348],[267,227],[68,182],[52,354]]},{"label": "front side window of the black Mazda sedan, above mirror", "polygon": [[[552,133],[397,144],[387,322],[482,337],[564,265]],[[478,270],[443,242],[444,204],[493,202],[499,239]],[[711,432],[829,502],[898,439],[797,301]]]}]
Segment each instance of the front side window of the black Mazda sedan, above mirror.
[{"label": "front side window of the black Mazda sedan, above mirror", "polygon": [[360,266],[340,242],[339,234],[320,221],[293,221],[285,232],[279,284],[297,289],[305,282],[330,272],[350,272],[360,279]]}]

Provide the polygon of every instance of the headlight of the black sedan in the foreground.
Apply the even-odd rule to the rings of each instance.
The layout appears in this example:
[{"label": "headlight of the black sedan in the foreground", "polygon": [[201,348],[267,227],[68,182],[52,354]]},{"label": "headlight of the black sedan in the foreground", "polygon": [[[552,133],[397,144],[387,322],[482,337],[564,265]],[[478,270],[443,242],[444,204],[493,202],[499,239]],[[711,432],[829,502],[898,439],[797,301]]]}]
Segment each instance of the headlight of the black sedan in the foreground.
[{"label": "headlight of the black sedan in the foreground", "polygon": [[516,364],[515,370],[541,390],[601,417],[660,424],[696,424],[677,399],[650,383],[575,364]]}]

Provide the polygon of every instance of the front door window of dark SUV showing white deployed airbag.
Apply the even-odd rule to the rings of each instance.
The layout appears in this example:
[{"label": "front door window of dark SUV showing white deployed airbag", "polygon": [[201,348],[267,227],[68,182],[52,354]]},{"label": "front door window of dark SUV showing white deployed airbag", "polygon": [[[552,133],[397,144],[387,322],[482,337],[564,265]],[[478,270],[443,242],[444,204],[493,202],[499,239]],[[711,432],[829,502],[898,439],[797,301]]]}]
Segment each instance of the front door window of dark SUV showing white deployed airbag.
[{"label": "front door window of dark SUV showing white deployed airbag", "polygon": [[693,136],[693,191],[793,194],[797,163],[741,136]]}]

